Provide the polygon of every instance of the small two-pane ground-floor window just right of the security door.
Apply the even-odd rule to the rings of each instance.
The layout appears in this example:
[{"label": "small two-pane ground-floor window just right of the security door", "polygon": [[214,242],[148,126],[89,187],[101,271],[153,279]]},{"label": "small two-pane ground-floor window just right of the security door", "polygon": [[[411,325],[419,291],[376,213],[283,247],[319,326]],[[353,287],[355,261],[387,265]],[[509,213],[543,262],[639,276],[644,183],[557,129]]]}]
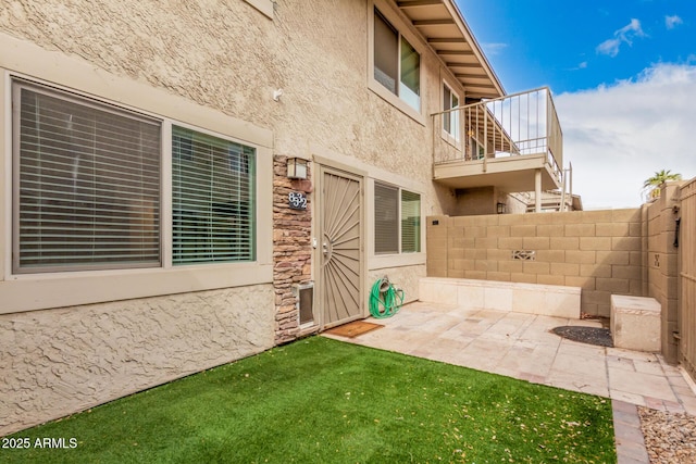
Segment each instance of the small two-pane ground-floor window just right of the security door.
[{"label": "small two-pane ground-floor window just right of the security door", "polygon": [[374,185],[375,254],[421,251],[421,196],[386,184]]}]

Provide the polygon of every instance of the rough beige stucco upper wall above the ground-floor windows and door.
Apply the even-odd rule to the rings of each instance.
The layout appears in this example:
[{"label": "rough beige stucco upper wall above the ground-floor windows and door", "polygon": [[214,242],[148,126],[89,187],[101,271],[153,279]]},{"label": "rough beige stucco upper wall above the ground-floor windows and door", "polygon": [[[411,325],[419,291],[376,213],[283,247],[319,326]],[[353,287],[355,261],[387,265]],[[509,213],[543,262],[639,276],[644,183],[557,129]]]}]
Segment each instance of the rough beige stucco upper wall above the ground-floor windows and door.
[{"label": "rough beige stucco upper wall above the ground-floor windows and door", "polygon": [[[365,1],[278,0],[274,20],[241,1],[5,3],[0,30],[272,128],[276,154],[325,147],[423,183],[427,214],[453,201],[432,183],[430,117],[423,126],[366,86]],[[439,111],[443,70],[421,48],[427,115]]]}]

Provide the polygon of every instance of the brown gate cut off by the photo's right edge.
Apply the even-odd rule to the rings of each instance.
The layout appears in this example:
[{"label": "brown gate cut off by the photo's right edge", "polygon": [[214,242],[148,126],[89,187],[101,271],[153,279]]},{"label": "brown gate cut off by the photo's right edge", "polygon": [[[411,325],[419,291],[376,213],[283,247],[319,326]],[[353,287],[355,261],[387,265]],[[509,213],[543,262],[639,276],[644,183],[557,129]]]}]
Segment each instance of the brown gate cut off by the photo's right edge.
[{"label": "brown gate cut off by the photo's right edge", "polygon": [[696,179],[681,190],[679,358],[692,378],[696,378]]}]

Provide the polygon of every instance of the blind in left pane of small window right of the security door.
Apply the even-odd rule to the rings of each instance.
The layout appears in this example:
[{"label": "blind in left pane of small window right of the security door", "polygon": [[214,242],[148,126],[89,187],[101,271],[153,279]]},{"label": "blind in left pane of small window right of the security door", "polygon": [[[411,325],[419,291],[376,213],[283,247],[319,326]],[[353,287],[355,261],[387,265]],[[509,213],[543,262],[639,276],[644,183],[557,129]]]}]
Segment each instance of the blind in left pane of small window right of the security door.
[{"label": "blind in left pane of small window right of the security door", "polygon": [[399,189],[374,185],[374,252],[399,252]]}]

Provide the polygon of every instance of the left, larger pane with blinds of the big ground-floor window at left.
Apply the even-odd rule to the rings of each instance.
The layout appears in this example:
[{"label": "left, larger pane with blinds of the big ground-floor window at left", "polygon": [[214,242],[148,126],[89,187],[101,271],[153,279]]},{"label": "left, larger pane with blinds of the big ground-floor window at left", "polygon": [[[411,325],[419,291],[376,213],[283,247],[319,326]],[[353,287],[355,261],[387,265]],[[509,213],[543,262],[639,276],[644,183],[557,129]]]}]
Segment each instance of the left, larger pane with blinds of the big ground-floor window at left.
[{"label": "left, larger pane with blinds of the big ground-floor window at left", "polygon": [[14,81],[13,272],[159,266],[161,122]]}]

